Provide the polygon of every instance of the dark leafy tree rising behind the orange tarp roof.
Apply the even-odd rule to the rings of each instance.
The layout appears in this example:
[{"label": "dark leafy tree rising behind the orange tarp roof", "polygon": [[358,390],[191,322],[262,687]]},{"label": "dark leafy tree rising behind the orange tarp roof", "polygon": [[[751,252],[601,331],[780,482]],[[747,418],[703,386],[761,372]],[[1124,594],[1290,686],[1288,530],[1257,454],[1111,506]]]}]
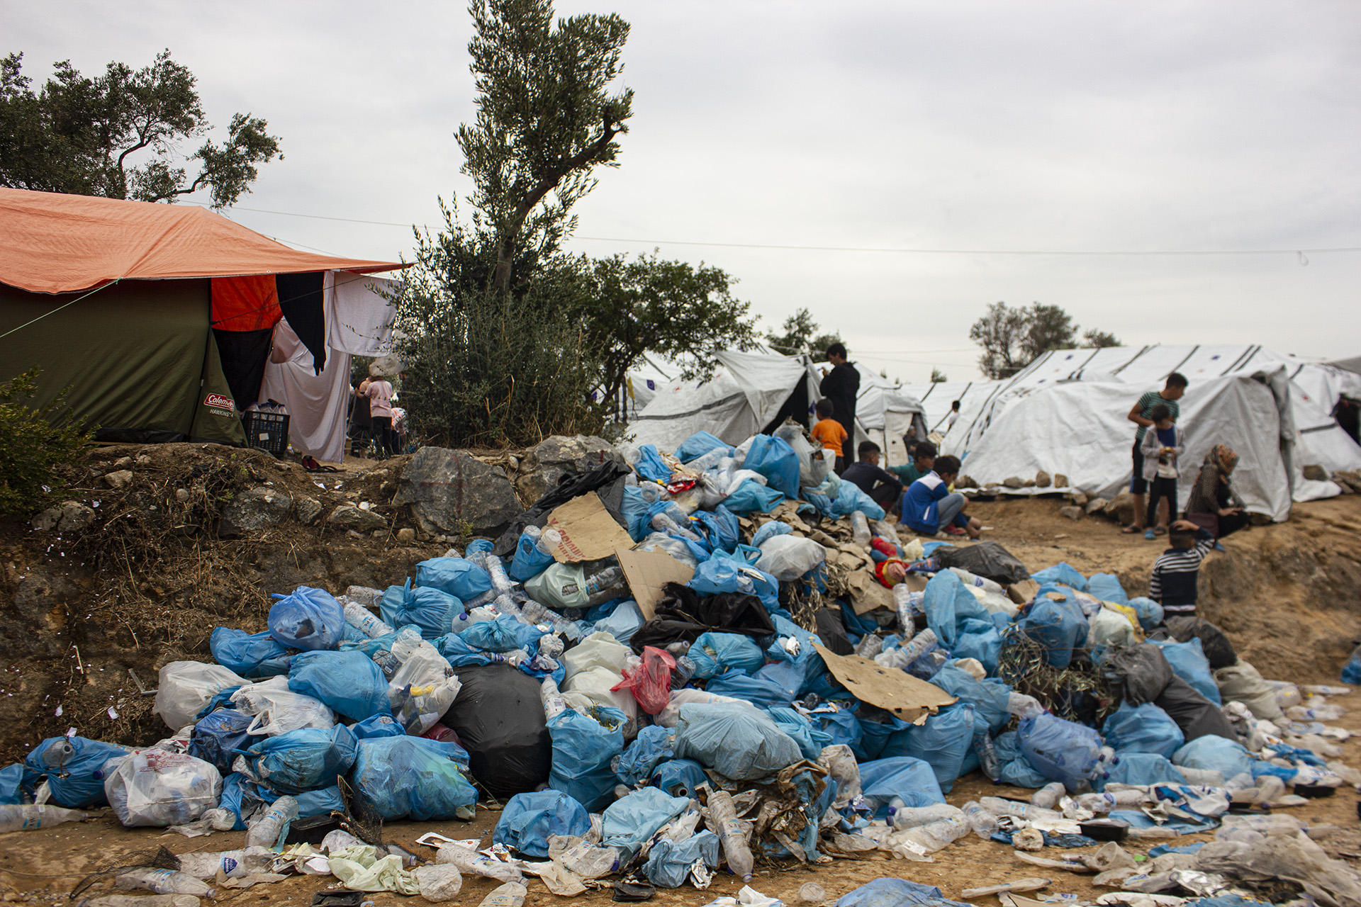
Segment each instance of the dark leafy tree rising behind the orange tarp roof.
[{"label": "dark leafy tree rising behind the orange tarp roof", "polygon": [[226,141],[181,155],[181,140],[211,126],[193,73],[169,50],[137,71],[110,63],[93,79],[61,61],[39,92],[22,61],[0,58],[0,185],[140,201],[208,189],[222,208],[249,192],[259,165],[282,158],[268,122],[245,113],[231,117]]}]

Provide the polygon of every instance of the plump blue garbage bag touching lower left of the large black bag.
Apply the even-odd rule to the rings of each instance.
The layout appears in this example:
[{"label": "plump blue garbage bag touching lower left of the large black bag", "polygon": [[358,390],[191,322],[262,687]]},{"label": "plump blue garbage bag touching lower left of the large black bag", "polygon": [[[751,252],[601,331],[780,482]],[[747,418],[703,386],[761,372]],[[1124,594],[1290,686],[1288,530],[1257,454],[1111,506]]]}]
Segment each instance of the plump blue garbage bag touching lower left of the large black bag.
[{"label": "plump blue garbage bag touching lower left of the large black bag", "polygon": [[384,821],[453,819],[478,802],[468,782],[468,753],[427,737],[369,737],[357,744],[350,787]]}]

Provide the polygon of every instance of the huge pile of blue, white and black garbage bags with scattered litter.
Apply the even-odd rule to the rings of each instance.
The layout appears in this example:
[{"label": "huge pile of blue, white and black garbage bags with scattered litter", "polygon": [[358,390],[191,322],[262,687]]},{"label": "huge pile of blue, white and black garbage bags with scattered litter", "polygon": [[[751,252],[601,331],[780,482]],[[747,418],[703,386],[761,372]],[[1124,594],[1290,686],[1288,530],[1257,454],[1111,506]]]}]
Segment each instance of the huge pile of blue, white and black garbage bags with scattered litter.
[{"label": "huge pile of blue, white and black garbage bags with scattered litter", "polygon": [[[44,741],[0,770],[0,831],[102,806],[246,831],[116,880],[197,896],[308,873],[438,902],[471,873],[504,883],[498,903],[527,876],[641,897],[758,861],[931,861],[973,834],[1160,904],[1285,878],[1361,907],[1327,829],[1268,812],[1361,787],[1326,723],[1349,688],[1267,681],[1113,575],[900,534],[796,426],[623,453],[401,585],[301,586],[263,632],[218,627],[215,664],[161,669],[169,737]],[[1036,793],[947,805],[976,770]],[[501,809],[487,850],[382,842],[479,802]],[[1145,868],[1115,843],[1215,828]]]}]

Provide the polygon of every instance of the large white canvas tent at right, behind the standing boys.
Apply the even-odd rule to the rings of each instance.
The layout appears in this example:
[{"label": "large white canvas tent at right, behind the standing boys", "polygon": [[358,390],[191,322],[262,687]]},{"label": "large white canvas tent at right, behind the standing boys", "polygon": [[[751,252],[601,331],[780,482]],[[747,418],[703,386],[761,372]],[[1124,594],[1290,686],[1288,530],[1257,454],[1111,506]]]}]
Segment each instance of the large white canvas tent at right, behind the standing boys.
[{"label": "large white canvas tent at right, behind the standing boys", "polygon": [[1289,514],[1292,499],[1338,494],[1331,481],[1305,480],[1302,466],[1361,468],[1361,447],[1330,415],[1335,394],[1350,393],[1361,377],[1258,345],[1045,354],[985,398],[968,401],[943,451],[961,457],[964,472],[980,483],[1029,479],[1043,469],[1067,475],[1072,488],[1109,496],[1131,473],[1135,430],[1126,413],[1172,371],[1191,382],[1179,420],[1188,476],[1179,483],[1180,503],[1217,443],[1240,454],[1234,487],[1248,509],[1274,519]]}]

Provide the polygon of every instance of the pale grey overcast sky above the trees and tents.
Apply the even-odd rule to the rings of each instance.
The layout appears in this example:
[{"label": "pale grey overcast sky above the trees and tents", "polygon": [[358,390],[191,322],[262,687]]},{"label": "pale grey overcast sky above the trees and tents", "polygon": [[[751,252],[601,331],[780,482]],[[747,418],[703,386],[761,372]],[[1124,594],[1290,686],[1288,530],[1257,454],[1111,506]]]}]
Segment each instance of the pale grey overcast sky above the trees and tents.
[{"label": "pale grey overcast sky above the trees and tents", "polygon": [[[762,328],[806,306],[908,382],[977,377],[969,325],[998,301],[1127,344],[1361,352],[1358,252],[996,254],[1361,246],[1356,3],[558,3],[611,11],[636,113],[572,250],[717,265]],[[437,197],[468,189],[460,3],[0,12],[35,82],[170,48],[215,124],[265,117],[284,160],[227,213],[280,241],[410,258],[410,228],[316,218],[437,224]]]}]

